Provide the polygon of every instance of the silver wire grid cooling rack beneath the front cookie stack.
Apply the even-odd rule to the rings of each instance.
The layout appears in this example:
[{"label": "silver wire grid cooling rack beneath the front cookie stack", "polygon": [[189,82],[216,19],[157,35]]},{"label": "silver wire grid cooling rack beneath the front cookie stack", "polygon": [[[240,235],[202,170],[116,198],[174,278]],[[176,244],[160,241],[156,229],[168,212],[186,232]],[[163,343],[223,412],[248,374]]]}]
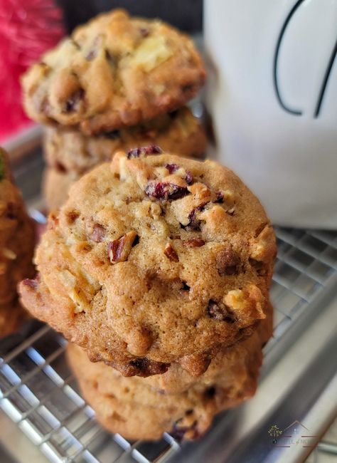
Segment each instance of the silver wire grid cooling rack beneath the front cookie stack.
[{"label": "silver wire grid cooling rack beneath the front cookie stack", "polygon": [[[279,252],[271,289],[274,337],[265,355],[323,291],[337,283],[337,233],[277,229]],[[180,444],[168,434],[159,442],[130,442],[95,422],[65,362],[65,340],[33,323],[0,343],[0,407],[51,462],[164,462]]]}]

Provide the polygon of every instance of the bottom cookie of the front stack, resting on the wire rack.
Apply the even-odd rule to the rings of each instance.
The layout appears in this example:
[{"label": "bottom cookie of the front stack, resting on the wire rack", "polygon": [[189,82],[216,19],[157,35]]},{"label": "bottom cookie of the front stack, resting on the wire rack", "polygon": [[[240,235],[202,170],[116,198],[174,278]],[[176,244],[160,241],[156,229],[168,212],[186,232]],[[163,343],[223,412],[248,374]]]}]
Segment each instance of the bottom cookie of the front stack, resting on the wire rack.
[{"label": "bottom cookie of the front stack, resting on the wire rack", "polygon": [[261,347],[254,336],[245,343],[245,355],[230,370],[176,394],[158,392],[144,378],[124,378],[102,362],[91,363],[77,345],[69,344],[67,353],[83,397],[109,432],[146,440],[170,432],[178,439],[193,440],[205,434],[217,413],[254,395]]}]

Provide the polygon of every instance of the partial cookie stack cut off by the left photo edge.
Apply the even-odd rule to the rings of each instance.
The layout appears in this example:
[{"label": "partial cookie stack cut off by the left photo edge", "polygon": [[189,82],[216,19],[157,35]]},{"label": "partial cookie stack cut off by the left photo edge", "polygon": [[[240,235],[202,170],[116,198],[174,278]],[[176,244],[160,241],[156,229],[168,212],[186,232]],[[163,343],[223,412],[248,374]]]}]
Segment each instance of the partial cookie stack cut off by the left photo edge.
[{"label": "partial cookie stack cut off by the left photo edge", "polygon": [[34,241],[33,222],[14,184],[6,152],[0,148],[0,338],[26,318],[16,285],[34,274]]}]

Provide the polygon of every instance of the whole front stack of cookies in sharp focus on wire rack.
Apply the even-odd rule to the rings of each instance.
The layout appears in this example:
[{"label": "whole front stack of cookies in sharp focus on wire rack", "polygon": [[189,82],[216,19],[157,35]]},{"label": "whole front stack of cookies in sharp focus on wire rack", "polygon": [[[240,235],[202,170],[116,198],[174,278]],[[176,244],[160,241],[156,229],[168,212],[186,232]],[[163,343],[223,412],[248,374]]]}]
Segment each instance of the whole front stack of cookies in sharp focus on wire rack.
[{"label": "whole front stack of cookies in sharp focus on wire rack", "polygon": [[107,430],[196,439],[255,392],[275,251],[264,209],[230,170],[139,147],[73,185],[20,291],[73,343]]}]

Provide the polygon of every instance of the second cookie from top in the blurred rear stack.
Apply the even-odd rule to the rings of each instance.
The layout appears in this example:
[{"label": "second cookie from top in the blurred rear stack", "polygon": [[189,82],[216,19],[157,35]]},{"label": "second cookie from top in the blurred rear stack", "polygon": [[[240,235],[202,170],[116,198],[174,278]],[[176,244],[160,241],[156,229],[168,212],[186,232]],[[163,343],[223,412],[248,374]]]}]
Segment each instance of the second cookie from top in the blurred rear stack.
[{"label": "second cookie from top in the blurred rear stack", "polygon": [[159,145],[163,150],[188,157],[202,157],[205,130],[187,107],[163,114],[134,127],[86,137],[77,130],[47,128],[44,152],[49,167],[59,172],[83,175],[96,165],[111,160],[117,150]]}]

